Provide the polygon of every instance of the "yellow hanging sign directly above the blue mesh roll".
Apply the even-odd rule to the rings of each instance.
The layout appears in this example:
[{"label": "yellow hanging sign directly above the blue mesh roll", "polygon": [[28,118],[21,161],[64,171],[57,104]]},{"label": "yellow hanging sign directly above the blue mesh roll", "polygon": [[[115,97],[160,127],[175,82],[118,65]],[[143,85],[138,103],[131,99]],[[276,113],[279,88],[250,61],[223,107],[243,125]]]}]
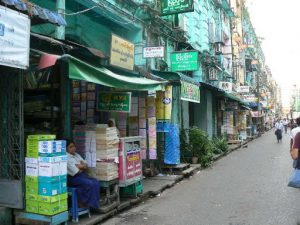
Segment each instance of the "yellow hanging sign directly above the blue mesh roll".
[{"label": "yellow hanging sign directly above the blue mesh roll", "polygon": [[156,119],[170,120],[172,112],[172,86],[156,92]]}]

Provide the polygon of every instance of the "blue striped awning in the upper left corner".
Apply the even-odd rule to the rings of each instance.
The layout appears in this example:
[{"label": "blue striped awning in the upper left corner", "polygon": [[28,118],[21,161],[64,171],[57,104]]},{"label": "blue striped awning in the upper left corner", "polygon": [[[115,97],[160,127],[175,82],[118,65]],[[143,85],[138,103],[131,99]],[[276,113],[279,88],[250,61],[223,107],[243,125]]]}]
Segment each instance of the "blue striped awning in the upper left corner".
[{"label": "blue striped awning in the upper left corner", "polygon": [[13,7],[21,12],[24,12],[30,17],[37,17],[59,26],[67,26],[67,22],[62,15],[58,14],[57,12],[42,8],[31,2],[25,2],[22,0],[0,0],[0,3],[2,3],[4,6]]}]

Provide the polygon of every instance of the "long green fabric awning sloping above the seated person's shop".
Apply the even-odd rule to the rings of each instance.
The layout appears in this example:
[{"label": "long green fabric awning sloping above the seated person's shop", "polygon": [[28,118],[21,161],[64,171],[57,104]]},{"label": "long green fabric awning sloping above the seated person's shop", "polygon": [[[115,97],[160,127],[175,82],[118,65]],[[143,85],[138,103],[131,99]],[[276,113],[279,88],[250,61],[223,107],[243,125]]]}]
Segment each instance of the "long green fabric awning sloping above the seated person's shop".
[{"label": "long green fabric awning sloping above the seated person's shop", "polygon": [[71,55],[63,55],[60,60],[68,63],[69,78],[84,80],[108,87],[136,91],[158,91],[164,89],[167,81],[155,81],[141,76],[116,74],[104,67],[96,67]]}]

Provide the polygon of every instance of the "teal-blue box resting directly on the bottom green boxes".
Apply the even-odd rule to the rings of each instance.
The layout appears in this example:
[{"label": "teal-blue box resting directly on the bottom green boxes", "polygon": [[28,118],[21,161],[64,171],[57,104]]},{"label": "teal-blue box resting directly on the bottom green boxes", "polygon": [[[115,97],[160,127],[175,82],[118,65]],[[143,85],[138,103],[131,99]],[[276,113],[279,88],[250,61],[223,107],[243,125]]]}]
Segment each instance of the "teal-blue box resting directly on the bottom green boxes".
[{"label": "teal-blue box resting directly on the bottom green boxes", "polygon": [[67,192],[67,180],[59,182],[40,182],[39,195],[54,196]]}]

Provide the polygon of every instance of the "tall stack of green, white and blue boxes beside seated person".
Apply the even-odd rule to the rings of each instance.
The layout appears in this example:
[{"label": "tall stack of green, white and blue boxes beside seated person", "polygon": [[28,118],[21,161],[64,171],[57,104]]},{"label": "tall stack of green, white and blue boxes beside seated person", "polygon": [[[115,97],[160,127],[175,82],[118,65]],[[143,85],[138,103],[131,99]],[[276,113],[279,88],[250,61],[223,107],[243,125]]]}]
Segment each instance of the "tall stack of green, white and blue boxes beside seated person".
[{"label": "tall stack of green, white and blue boxes beside seated person", "polygon": [[55,135],[29,135],[26,211],[55,215],[68,210],[66,142]]}]

